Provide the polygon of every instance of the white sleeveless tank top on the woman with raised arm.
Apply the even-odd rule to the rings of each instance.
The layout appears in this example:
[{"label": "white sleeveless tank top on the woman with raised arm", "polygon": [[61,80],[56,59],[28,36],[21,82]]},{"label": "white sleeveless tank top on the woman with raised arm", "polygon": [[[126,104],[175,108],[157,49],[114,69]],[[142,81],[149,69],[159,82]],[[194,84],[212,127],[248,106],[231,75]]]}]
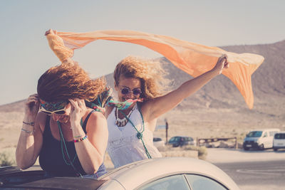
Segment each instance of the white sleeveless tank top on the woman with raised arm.
[{"label": "white sleeveless tank top on the woman with raised arm", "polygon": [[[138,110],[138,106],[135,106],[129,119],[133,122],[135,127],[127,123],[124,127],[118,127],[115,124],[115,108],[110,112],[108,116],[108,147],[107,151],[112,159],[114,167],[121,167],[125,164],[130,164],[142,159],[147,159],[147,154],[145,153],[145,148],[143,147],[141,139],[138,139],[138,132],[135,130],[135,127],[139,132],[142,132],[142,116]],[[142,132],[142,139],[147,147],[147,151],[150,153],[152,158],[161,157],[160,152],[153,145],[153,134],[148,130],[147,125],[145,124],[145,130]]]}]

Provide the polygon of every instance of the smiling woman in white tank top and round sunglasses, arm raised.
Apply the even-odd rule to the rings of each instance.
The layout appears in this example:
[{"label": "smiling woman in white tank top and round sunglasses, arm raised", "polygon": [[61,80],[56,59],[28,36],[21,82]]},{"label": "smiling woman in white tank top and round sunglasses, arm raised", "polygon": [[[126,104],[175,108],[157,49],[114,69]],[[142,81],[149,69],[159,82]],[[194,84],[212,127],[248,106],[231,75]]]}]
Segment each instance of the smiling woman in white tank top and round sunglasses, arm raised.
[{"label": "smiling woman in white tank top and round sunglasses, arm raised", "polygon": [[133,56],[120,61],[113,73],[115,91],[118,100],[128,102],[128,106],[108,107],[107,150],[114,166],[161,157],[152,142],[157,117],[172,110],[228,67],[227,56],[223,55],[212,70],[162,95],[159,64]]}]

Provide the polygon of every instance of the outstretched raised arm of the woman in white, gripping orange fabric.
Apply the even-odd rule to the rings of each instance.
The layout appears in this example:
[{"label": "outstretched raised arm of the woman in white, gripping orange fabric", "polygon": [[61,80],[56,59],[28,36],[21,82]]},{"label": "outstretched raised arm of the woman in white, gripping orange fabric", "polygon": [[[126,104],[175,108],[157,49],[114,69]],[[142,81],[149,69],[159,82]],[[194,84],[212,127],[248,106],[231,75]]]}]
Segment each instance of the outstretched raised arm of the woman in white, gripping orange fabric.
[{"label": "outstretched raised arm of the woman in white, gripping orange fabric", "polygon": [[216,65],[212,70],[207,71],[206,73],[199,75],[197,78],[193,78],[183,83],[179,88],[173,90],[166,95],[161,97],[156,97],[154,100],[145,102],[142,105],[143,113],[145,119],[150,122],[165,112],[176,107],[182,100],[186,97],[189,97],[193,93],[197,92],[205,84],[207,84],[212,78],[222,73],[224,68],[228,68],[229,63],[227,63],[227,55],[222,55],[217,60]]}]

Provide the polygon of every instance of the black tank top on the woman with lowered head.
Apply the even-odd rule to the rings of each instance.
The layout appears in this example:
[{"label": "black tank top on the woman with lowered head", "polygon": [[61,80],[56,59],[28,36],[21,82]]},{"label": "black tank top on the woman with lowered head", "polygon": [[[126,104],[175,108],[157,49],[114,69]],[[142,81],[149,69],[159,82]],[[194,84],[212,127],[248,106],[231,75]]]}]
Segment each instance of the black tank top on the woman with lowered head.
[{"label": "black tank top on the woman with lowered head", "polygon": [[[94,111],[94,110],[93,110]],[[93,112],[92,111],[92,112]],[[86,120],[83,122],[83,131],[86,133],[86,125],[88,118],[90,117],[91,113],[88,114]],[[47,172],[48,176],[80,176],[85,175],[86,172],[83,170],[81,163],[76,154],[76,147],[74,142],[66,142],[66,148],[68,150],[68,154],[73,161],[73,166],[63,159],[63,150],[61,149],[61,141],[55,139],[51,134],[51,127],[50,127],[50,120],[51,117],[46,117],[46,127],[43,132],[43,145],[41,147],[41,152],[39,154],[39,163],[43,171]],[[64,149],[65,147],[63,147]],[[75,169],[73,168],[75,167]]]}]

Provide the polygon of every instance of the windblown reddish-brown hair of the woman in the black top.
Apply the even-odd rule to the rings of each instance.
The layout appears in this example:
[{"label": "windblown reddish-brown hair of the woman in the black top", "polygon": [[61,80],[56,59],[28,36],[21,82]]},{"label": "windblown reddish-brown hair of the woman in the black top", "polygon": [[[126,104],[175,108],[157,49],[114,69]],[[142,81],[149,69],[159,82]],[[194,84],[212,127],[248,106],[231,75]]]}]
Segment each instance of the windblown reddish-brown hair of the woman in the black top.
[{"label": "windblown reddish-brown hair of the woman in the black top", "polygon": [[38,79],[38,96],[47,102],[79,98],[95,100],[105,90],[105,80],[90,79],[78,63],[62,63],[46,70]]}]

